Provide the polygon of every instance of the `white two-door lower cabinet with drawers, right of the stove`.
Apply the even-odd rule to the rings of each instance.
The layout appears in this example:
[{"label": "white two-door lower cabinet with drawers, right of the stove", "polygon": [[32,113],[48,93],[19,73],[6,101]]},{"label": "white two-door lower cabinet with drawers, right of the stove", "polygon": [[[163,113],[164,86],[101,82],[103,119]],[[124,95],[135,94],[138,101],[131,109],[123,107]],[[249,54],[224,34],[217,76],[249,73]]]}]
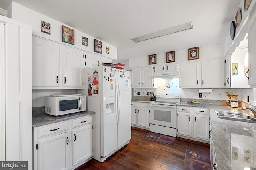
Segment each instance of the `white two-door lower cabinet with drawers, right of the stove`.
[{"label": "white two-door lower cabinet with drawers, right of the stove", "polygon": [[178,137],[209,142],[209,109],[199,107],[177,107]]}]

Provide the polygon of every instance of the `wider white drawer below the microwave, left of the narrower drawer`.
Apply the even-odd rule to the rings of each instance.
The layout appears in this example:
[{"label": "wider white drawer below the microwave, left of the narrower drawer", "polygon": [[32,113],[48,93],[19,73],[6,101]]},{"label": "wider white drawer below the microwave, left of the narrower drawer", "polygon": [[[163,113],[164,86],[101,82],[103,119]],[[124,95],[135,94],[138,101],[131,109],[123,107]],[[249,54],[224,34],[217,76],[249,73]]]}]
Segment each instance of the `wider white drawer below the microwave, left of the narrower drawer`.
[{"label": "wider white drawer below the microwave, left of the narrower drawer", "polygon": [[41,127],[37,129],[37,137],[44,137],[47,135],[51,135],[54,133],[59,133],[61,131],[65,131],[68,130],[68,124],[69,122],[62,122],[62,123],[53,123],[50,126],[46,126],[46,127]]}]

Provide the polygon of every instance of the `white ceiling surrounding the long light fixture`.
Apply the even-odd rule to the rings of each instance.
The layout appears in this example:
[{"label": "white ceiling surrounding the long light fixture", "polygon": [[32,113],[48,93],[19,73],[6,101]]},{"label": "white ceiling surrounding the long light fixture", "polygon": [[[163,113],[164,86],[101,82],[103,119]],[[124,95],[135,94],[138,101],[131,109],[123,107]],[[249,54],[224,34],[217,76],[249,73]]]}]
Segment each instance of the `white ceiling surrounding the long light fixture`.
[{"label": "white ceiling surrounding the long light fixture", "polygon": [[[224,43],[241,0],[12,0],[117,47],[118,60]],[[0,0],[7,9],[11,0]],[[194,29],[132,38],[188,21]]]}]

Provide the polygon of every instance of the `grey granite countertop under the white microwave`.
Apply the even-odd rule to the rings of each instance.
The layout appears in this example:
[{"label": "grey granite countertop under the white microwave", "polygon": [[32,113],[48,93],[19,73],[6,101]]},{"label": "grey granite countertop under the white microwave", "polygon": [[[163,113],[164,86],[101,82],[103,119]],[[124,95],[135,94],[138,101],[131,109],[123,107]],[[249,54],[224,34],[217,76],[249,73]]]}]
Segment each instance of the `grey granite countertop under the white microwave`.
[{"label": "grey granite countertop under the white microwave", "polygon": [[84,116],[88,116],[88,115],[93,115],[95,114],[94,111],[84,111],[81,113],[74,113],[71,115],[63,115],[60,117],[54,117],[52,115],[48,115],[48,114],[33,114],[33,127],[38,127],[38,126],[43,126],[43,125],[48,125],[51,123],[56,123],[56,122],[60,122],[60,121],[65,121],[65,120],[70,120],[70,119],[75,119],[78,117],[84,117]]}]

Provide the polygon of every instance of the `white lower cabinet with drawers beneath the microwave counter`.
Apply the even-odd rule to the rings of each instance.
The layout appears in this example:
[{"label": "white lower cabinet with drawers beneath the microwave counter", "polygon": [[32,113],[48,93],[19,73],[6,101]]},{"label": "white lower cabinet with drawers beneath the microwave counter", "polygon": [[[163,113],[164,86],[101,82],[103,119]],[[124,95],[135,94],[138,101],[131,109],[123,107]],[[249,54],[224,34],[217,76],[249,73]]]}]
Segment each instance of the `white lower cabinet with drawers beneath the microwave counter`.
[{"label": "white lower cabinet with drawers beneath the microwave counter", "polygon": [[93,115],[33,128],[34,170],[70,170],[93,156]]}]

